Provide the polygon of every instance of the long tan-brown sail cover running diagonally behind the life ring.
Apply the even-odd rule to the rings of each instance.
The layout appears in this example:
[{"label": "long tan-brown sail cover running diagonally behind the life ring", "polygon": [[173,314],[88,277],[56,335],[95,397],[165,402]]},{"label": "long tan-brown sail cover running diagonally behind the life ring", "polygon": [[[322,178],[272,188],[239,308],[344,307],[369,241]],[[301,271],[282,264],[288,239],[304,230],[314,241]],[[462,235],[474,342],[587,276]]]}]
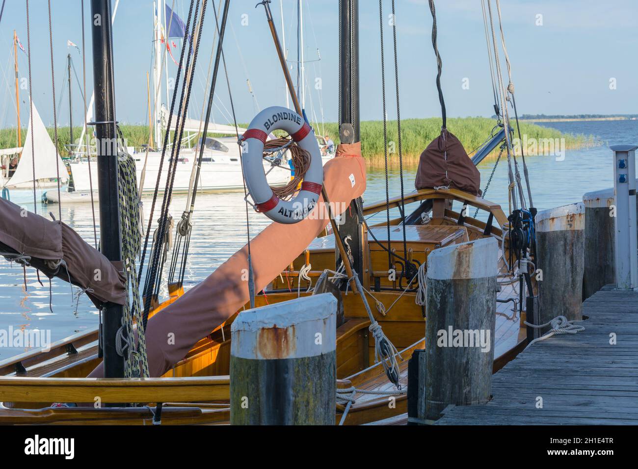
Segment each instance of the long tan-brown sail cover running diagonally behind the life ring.
[{"label": "long tan-brown sail cover running diagonally behind the life ring", "polygon": [[[362,195],[366,190],[366,167],[359,143],[339,145],[336,157],[323,167],[323,184],[338,214],[353,198]],[[256,292],[286,269],[329,223],[319,215],[323,212],[320,205],[295,225],[271,223],[251,241]],[[247,269],[248,247],[244,246],[207,279],[149,319],[146,347],[152,377],[166,373],[198,340],[249,301]],[[169,340],[173,336],[175,343]],[[89,377],[100,376],[103,376],[101,364]]]}]

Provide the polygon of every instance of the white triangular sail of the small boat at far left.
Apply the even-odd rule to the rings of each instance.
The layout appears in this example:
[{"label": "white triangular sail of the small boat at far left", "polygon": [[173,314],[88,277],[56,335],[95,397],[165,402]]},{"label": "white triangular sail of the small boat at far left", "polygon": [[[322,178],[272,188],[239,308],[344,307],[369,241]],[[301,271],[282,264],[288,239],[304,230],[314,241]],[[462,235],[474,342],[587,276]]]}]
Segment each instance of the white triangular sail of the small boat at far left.
[{"label": "white triangular sail of the small boat at far left", "polygon": [[[58,177],[61,182],[66,182],[68,172],[64,163],[56,152],[56,146],[51,141],[47,129],[40,119],[40,114],[33,105],[33,114],[29,117],[29,129],[24,139],[24,147],[22,147],[22,156],[20,162],[15,169],[15,173],[11,179],[7,181],[7,186],[15,186],[21,182],[33,181],[33,160],[35,159],[35,179],[53,179]],[[33,153],[31,151],[31,133],[33,132]]]}]

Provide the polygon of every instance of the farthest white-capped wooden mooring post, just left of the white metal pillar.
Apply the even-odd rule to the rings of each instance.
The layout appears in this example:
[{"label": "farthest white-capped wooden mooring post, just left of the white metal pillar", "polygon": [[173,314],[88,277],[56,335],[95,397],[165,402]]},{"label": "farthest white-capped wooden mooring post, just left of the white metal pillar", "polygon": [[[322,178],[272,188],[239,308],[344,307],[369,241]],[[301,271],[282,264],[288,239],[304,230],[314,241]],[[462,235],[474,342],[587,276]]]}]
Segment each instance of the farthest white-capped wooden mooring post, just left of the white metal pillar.
[{"label": "farthest white-capped wooden mooring post, just left of the white metal pillar", "polygon": [[585,251],[582,301],[600,288],[616,283],[614,248],[614,189],[588,192],[582,196],[585,206]]}]

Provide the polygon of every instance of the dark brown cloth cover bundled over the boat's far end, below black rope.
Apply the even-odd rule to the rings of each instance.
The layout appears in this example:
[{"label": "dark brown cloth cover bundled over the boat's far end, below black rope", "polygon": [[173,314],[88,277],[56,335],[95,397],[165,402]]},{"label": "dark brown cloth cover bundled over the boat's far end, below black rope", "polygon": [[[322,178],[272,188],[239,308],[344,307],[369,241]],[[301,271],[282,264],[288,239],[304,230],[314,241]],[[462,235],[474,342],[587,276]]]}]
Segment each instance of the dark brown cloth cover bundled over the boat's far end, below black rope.
[{"label": "dark brown cloth cover bundled over the boat's far end, below black rope", "polygon": [[449,186],[480,195],[480,173],[459,139],[449,131],[442,130],[441,135],[434,138],[421,153],[414,186],[417,189]]}]

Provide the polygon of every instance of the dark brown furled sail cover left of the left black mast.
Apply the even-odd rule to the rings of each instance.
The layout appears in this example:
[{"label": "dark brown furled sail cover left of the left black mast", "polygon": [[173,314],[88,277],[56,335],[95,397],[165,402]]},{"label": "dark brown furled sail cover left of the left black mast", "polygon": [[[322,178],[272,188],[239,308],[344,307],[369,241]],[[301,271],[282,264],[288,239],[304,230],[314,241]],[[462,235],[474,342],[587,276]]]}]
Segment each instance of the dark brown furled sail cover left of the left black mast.
[{"label": "dark brown furled sail cover left of the left black mast", "polygon": [[[121,263],[110,262],[61,221],[47,220],[0,198],[0,243],[30,256],[29,264],[48,278],[82,288],[98,307],[106,301],[126,301]],[[6,250],[1,245],[0,251]]]}]

